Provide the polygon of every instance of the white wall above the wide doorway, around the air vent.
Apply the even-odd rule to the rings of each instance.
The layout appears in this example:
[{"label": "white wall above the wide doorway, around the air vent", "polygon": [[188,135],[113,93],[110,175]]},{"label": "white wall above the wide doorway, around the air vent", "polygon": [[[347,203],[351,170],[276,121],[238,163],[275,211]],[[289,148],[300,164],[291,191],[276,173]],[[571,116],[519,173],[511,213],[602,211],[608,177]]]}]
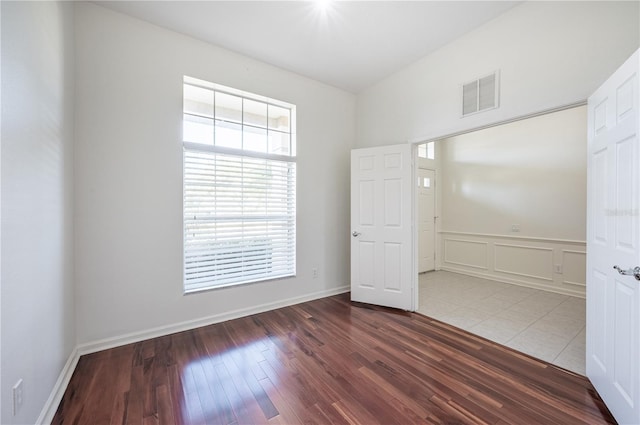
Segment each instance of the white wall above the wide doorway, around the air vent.
[{"label": "white wall above the wide doorway, around the air vent", "polygon": [[[427,140],[585,100],[640,45],[638,2],[525,2],[358,96],[357,147]],[[460,85],[500,70],[500,107]]]}]

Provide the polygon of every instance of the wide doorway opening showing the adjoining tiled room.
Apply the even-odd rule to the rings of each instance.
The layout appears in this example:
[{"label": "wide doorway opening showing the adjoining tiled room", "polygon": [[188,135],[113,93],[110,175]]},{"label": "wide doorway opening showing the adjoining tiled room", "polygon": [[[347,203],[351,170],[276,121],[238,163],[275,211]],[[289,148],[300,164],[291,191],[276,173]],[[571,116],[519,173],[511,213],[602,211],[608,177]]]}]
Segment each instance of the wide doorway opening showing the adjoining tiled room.
[{"label": "wide doorway opening showing the adjoining tiled room", "polygon": [[580,374],[586,115],[572,105],[432,142],[439,218],[417,310]]}]

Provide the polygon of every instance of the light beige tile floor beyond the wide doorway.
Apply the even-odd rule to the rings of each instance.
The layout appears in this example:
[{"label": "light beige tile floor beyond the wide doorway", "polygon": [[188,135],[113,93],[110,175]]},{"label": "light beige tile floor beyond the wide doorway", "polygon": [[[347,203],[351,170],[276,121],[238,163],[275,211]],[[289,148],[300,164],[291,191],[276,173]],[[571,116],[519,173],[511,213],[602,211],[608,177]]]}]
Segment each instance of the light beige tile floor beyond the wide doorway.
[{"label": "light beige tile floor beyond the wide doorway", "polygon": [[437,271],[420,275],[418,312],[585,374],[582,298]]}]

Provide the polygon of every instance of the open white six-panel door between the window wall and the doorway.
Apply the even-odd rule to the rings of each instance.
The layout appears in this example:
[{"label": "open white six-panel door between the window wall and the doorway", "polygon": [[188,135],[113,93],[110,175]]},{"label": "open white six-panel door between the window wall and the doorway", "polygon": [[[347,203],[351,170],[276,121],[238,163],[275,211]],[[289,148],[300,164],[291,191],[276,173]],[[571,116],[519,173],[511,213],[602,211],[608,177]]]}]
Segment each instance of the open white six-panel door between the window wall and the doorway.
[{"label": "open white six-panel door between the window wall and the doorway", "polygon": [[351,151],[351,299],[414,310],[412,146]]}]

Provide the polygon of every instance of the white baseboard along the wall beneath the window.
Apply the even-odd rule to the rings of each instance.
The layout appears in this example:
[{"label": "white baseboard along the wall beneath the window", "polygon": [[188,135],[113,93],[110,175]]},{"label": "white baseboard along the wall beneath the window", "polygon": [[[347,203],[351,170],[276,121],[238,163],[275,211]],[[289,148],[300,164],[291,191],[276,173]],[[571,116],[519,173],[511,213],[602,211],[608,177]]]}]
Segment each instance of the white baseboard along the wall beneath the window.
[{"label": "white baseboard along the wall beneath the window", "polygon": [[201,326],[213,325],[215,323],[238,319],[240,317],[250,316],[252,314],[263,313],[265,311],[275,310],[277,308],[288,307],[290,305],[300,304],[303,302],[316,300],[318,298],[330,297],[332,295],[349,292],[350,290],[351,287],[345,285],[324,291],[312,292],[300,297],[287,298],[285,300],[280,300],[272,303],[260,304],[257,306],[228,311],[221,314],[214,314],[212,316],[202,317],[200,319],[188,320],[185,322],[147,329],[140,332],[132,332],[125,335],[87,342],[78,346],[78,352],[80,353],[80,355],[95,353],[97,351],[107,350],[109,348],[144,341],[150,338],[165,336],[176,332],[188,331],[190,329],[199,328]]}]

